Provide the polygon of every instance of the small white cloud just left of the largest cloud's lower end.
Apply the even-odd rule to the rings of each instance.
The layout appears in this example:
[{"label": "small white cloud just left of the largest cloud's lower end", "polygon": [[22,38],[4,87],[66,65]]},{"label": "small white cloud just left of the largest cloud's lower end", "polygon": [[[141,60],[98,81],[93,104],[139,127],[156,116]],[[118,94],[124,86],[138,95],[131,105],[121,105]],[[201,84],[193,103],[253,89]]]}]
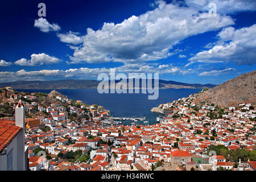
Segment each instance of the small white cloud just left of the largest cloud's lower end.
[{"label": "small white cloud just left of the largest cloud's lower end", "polygon": [[77,35],[79,35],[79,33],[72,32],[72,31],[69,31],[68,33],[65,33],[65,34],[57,34],[61,42],[75,44],[75,45],[82,43],[82,37]]}]

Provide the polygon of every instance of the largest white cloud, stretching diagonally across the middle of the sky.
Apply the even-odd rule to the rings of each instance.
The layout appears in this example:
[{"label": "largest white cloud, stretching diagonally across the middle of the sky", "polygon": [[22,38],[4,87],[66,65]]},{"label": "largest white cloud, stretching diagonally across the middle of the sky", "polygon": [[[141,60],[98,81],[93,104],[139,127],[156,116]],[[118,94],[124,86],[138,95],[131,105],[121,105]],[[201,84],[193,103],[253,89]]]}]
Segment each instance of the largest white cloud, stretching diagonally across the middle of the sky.
[{"label": "largest white cloud, stretching diagonally across the middle of the sky", "polygon": [[[70,59],[71,63],[164,59],[173,55],[170,50],[181,40],[232,24],[230,16],[211,17],[191,7],[158,1],[157,7],[145,14],[131,16],[117,24],[104,23],[97,31],[88,28],[82,46],[72,47],[74,53]],[[75,38],[74,34],[70,36]]]}]

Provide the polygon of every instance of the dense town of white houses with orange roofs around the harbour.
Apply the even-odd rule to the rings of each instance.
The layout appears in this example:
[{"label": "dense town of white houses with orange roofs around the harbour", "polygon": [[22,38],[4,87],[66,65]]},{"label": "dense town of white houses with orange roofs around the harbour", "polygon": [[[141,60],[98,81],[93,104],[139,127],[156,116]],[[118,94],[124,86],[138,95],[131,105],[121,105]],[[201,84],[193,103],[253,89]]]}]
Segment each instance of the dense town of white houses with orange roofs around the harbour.
[{"label": "dense town of white houses with orange roofs around the harbour", "polygon": [[[109,111],[99,111],[94,106],[66,107],[52,103],[44,107],[34,103],[36,111],[46,111],[49,117],[26,118],[25,142],[28,147],[29,168],[36,170],[85,170],[85,171],[147,171],[159,167],[159,162],[177,166],[178,169],[217,170],[233,169],[234,162],[228,162],[222,155],[209,154],[208,147],[218,144],[237,150],[255,150],[255,109],[250,104],[241,104],[240,109],[224,109],[221,118],[211,119],[209,111],[214,106],[200,106],[193,100],[196,94],[181,98],[160,107],[167,111],[166,117],[151,126],[115,125],[102,127],[100,120],[109,117]],[[31,97],[28,97],[31,99]],[[61,98],[57,98],[61,100]],[[78,101],[80,102],[80,101]],[[33,102],[32,102],[33,103]],[[71,104],[67,100],[68,104]],[[23,103],[26,107],[26,103]],[[86,107],[92,118],[81,122],[67,119],[68,114],[84,115]],[[29,113],[30,106],[26,107]],[[168,112],[170,110],[170,113]],[[88,113],[87,113],[88,114]],[[173,117],[174,115],[179,117]],[[11,120],[11,118],[10,118]],[[48,131],[43,130],[48,128]],[[214,131],[214,134],[212,133]],[[46,156],[38,156],[34,151],[42,148]],[[68,162],[59,154],[81,151],[89,159]],[[239,163],[236,170],[255,170],[255,161]],[[161,166],[160,166],[161,167]]]}]

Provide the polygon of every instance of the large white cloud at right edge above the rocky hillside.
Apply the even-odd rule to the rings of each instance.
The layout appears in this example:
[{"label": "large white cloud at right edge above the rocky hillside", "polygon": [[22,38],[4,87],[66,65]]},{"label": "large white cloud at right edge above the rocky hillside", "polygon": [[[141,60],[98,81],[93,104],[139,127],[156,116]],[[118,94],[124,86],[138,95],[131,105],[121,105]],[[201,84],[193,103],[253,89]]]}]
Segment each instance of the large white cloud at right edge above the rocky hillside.
[{"label": "large white cloud at right edge above the rocky hillside", "polygon": [[203,63],[220,63],[233,61],[237,64],[256,63],[256,24],[235,30],[224,28],[218,33],[216,46],[208,51],[201,51],[191,57],[190,61]]}]

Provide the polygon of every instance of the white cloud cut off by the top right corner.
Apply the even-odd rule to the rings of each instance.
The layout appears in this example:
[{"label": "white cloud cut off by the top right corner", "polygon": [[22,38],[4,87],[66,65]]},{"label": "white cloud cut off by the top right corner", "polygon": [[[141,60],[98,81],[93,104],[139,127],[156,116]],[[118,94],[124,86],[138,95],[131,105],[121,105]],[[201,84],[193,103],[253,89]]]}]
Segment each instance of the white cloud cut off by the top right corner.
[{"label": "white cloud cut off by the top right corner", "polygon": [[234,14],[242,11],[255,11],[255,0],[185,0],[189,7],[203,11],[209,11],[210,3],[216,4],[218,14]]}]

